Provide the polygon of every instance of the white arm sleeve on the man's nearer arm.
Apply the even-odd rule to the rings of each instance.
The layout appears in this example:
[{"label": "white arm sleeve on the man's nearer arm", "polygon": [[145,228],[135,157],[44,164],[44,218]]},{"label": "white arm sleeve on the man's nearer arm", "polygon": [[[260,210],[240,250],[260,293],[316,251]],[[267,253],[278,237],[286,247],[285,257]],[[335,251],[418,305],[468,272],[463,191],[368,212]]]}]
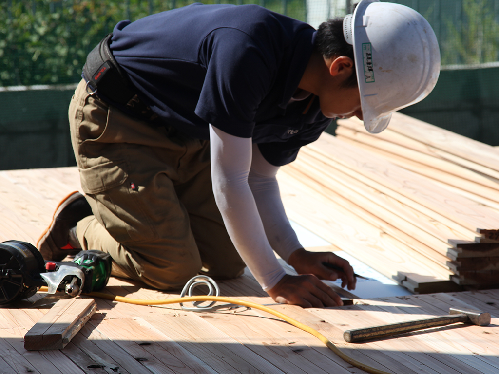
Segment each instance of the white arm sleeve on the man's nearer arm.
[{"label": "white arm sleeve on the man's nearer arm", "polygon": [[[251,139],[229,135],[210,125],[210,152],[213,191],[227,231],[258,283],[265,291],[269,290],[285,272],[265,235],[264,222],[248,183],[252,160]],[[261,172],[263,167],[258,165]],[[264,190],[261,188],[256,195],[264,195]],[[261,197],[256,199],[260,202],[265,200]]]}]

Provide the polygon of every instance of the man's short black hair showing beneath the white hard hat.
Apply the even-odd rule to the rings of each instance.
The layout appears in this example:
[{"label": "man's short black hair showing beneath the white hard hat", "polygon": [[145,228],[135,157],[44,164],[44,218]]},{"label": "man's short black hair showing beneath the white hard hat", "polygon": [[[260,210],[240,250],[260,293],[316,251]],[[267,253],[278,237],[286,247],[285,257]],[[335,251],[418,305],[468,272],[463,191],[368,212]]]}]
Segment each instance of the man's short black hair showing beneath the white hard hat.
[{"label": "man's short black hair showing beneath the white hard hat", "polygon": [[[322,22],[315,36],[314,48],[325,58],[347,56],[355,61],[353,45],[348,44],[343,36],[343,18],[332,18]],[[357,74],[352,73],[343,84],[344,87],[357,87]]]}]

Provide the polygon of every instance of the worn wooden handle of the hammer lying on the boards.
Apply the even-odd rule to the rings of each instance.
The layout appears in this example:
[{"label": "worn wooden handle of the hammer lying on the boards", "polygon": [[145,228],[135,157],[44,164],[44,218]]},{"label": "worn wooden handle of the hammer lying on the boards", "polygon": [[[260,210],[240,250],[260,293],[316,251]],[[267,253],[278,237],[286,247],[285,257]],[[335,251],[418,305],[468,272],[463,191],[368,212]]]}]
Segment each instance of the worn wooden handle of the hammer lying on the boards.
[{"label": "worn wooden handle of the hammer lying on the boards", "polygon": [[382,338],[395,334],[409,333],[411,331],[428,329],[430,327],[445,326],[457,322],[469,322],[466,314],[431,317],[422,320],[392,323],[388,325],[366,327],[363,329],[347,330],[343,339],[348,343],[361,342],[368,339]]}]

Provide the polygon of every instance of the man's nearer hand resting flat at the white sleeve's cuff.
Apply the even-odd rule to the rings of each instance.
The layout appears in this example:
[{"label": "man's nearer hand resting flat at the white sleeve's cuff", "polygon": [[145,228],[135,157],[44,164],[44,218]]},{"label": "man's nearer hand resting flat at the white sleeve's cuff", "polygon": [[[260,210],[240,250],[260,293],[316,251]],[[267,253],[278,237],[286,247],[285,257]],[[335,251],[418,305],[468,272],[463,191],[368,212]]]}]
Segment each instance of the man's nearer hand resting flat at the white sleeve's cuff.
[{"label": "man's nearer hand resting flat at the white sleeve's cuff", "polygon": [[286,274],[267,293],[276,303],[299,305],[302,308],[343,305],[338,294],[312,274]]}]

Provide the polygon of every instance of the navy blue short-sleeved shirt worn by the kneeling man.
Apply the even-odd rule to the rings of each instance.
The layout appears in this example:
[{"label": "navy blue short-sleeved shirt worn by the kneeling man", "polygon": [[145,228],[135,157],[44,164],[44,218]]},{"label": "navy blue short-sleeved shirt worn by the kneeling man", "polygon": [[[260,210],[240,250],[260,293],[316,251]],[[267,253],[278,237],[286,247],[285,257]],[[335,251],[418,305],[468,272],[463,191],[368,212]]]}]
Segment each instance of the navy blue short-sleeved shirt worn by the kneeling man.
[{"label": "navy blue short-sleeved shirt worn by the kneeling man", "polygon": [[111,50],[166,123],[200,139],[209,139],[210,123],[252,138],[280,166],[330,123],[317,97],[291,101],[314,32],[257,5],[192,4],[119,22]]}]

